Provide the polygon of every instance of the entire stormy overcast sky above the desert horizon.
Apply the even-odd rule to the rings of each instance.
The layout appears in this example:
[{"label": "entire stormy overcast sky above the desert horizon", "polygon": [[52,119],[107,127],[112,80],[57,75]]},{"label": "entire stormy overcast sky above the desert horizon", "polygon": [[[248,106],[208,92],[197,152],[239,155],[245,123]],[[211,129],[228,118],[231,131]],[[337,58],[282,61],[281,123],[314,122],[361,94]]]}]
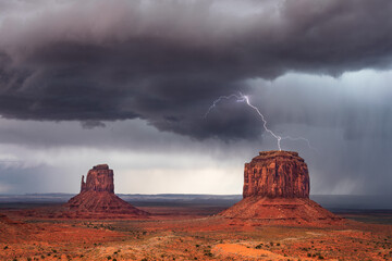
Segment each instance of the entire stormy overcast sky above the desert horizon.
[{"label": "entire stormy overcast sky above the desert horizon", "polygon": [[241,194],[281,141],[311,194],[390,194],[390,0],[0,0],[0,194]]}]

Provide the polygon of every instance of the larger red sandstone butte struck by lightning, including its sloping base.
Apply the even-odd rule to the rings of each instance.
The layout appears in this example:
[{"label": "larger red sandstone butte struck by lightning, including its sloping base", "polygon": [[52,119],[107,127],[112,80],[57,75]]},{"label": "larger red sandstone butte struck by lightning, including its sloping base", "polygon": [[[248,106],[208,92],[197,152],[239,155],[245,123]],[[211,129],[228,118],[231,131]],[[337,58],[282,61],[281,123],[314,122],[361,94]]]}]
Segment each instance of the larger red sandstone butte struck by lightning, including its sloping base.
[{"label": "larger red sandstone butte struck by lightning, including its sloping base", "polygon": [[267,223],[335,223],[341,217],[309,199],[307,165],[297,152],[261,151],[245,163],[243,200],[220,215]]}]

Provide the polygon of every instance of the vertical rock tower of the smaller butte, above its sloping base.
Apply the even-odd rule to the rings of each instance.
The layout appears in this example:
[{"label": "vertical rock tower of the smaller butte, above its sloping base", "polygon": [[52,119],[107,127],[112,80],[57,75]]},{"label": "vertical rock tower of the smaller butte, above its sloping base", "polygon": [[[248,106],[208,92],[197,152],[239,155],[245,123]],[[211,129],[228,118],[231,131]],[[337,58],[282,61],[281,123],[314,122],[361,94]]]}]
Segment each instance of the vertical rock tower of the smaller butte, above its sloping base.
[{"label": "vertical rock tower of the smaller butte, above its sloping base", "polygon": [[108,191],[114,194],[113,171],[107,164],[94,166],[87,173],[87,181],[82,176],[81,192]]}]

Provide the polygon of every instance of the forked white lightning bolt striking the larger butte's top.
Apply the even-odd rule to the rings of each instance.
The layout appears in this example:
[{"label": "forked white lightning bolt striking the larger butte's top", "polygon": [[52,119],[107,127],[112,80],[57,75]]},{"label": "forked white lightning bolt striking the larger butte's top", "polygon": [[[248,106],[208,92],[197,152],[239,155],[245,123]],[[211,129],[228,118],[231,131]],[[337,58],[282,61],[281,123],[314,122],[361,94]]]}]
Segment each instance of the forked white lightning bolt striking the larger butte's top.
[{"label": "forked white lightning bolt striking the larger butte's top", "polygon": [[[259,109],[258,109],[257,107],[255,107],[254,104],[250,103],[248,96],[244,96],[244,95],[241,94],[241,92],[240,92],[238,95],[230,95],[230,96],[221,96],[221,97],[219,97],[219,98],[218,98],[217,100],[215,100],[215,101],[212,102],[212,104],[208,108],[208,110],[207,110],[206,114],[204,115],[204,117],[206,119],[206,117],[208,116],[208,114],[211,112],[211,110],[213,110],[213,108],[216,108],[219,102],[221,102],[222,100],[231,100],[231,99],[233,99],[233,98],[236,99],[236,102],[245,102],[248,107],[250,107],[252,109],[254,109],[254,110],[257,112],[257,114],[260,116],[260,119],[261,119],[261,121],[262,121],[262,127],[264,127],[264,129],[265,129],[267,133],[269,133],[272,137],[274,137],[274,138],[277,139],[278,148],[279,148],[280,151],[282,150],[281,141],[284,140],[284,139],[294,140],[294,141],[295,141],[295,140],[304,140],[304,141],[308,145],[308,147],[309,147],[310,149],[316,150],[315,148],[313,148],[313,147],[310,146],[309,140],[306,139],[306,138],[303,138],[303,137],[293,138],[293,137],[290,137],[290,136],[282,137],[282,136],[278,135],[278,134],[273,133],[271,129],[269,129],[268,126],[267,126],[267,124],[268,124],[268,123],[267,123],[267,120],[266,120],[266,117],[262,115],[262,113],[259,111]],[[316,151],[317,151],[317,150],[316,150]]]}]

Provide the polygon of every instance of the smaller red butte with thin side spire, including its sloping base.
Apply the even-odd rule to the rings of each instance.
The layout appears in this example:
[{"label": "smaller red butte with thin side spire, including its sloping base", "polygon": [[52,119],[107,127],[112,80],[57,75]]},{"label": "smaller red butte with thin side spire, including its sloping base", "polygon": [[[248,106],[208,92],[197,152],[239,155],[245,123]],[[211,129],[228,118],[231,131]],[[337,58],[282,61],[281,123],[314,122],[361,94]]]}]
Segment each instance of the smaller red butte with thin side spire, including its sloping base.
[{"label": "smaller red butte with thin side spire, including its sloping base", "polygon": [[[81,192],[65,204],[74,217],[100,216],[147,216],[139,210],[114,195],[113,171],[107,164],[96,165],[82,176]],[[70,216],[70,212],[65,216]]]}]

